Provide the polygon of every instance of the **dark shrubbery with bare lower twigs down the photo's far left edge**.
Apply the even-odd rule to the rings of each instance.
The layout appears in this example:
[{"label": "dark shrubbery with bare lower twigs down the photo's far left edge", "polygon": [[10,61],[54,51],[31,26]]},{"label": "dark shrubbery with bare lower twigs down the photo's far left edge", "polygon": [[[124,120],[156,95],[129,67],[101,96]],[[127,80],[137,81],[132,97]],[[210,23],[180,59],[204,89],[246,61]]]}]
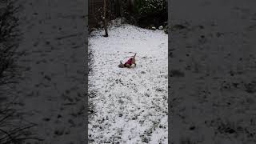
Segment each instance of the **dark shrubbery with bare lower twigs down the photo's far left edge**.
[{"label": "dark shrubbery with bare lower twigs down the photo's far left edge", "polygon": [[14,15],[21,10],[15,1],[0,2],[0,143],[18,144],[36,139],[30,128],[36,126],[25,122],[14,108],[18,95],[13,93],[13,84],[18,83],[20,67],[16,62],[23,53],[18,52],[20,32],[18,18]]}]

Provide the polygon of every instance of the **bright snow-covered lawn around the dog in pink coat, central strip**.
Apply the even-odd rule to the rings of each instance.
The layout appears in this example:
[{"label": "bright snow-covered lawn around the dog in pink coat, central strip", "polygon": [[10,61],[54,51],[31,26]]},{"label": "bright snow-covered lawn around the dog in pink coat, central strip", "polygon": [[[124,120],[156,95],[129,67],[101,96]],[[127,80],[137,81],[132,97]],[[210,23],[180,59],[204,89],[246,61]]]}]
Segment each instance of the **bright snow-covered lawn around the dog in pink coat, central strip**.
[{"label": "bright snow-covered lawn around the dog in pink coat, central strip", "polygon": [[[89,90],[97,91],[89,119],[91,143],[167,143],[168,35],[163,30],[110,26],[90,34],[94,51]],[[119,68],[137,53],[137,66]]]}]

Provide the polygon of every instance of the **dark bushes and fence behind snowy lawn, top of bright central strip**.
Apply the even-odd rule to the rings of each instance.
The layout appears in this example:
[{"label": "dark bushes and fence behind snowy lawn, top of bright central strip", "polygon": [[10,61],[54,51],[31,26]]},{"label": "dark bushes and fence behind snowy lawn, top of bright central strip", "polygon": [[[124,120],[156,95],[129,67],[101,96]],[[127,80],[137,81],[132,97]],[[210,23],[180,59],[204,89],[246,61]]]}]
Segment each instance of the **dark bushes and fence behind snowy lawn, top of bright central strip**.
[{"label": "dark bushes and fence behind snowy lawn, top of bright central strip", "polygon": [[[95,6],[97,6],[95,4]],[[104,28],[107,36],[107,23],[115,18],[125,18],[127,23],[140,26],[142,28],[168,29],[168,8],[166,0],[123,0],[123,1],[102,1],[102,6],[90,15],[98,23],[95,26],[89,26],[90,31],[94,28]],[[90,25],[90,22],[89,22]],[[93,28],[94,27],[94,28]]]}]

